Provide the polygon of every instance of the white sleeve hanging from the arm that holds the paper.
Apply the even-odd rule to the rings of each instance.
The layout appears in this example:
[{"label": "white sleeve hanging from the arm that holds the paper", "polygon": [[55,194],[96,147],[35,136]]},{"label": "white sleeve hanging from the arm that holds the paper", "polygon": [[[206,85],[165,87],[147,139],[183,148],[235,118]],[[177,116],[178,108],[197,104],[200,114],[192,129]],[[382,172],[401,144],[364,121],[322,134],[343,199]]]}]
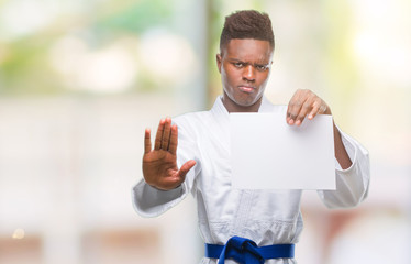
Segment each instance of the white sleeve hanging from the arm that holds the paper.
[{"label": "white sleeve hanging from the arm that holds the paper", "polygon": [[357,141],[341,132],[343,144],[352,161],[352,166],[342,169],[335,160],[335,190],[319,190],[318,194],[329,208],[355,207],[368,195],[369,156]]}]

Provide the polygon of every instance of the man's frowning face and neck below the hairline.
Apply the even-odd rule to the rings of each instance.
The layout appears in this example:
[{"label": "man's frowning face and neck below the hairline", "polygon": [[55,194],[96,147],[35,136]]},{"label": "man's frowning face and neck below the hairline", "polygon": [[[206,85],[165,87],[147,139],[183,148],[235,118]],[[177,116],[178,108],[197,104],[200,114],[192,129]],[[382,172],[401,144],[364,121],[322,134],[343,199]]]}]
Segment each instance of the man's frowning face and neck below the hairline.
[{"label": "man's frowning face and neck below the hairline", "polygon": [[216,64],[229,112],[256,112],[268,81],[273,48],[268,41],[231,40]]}]

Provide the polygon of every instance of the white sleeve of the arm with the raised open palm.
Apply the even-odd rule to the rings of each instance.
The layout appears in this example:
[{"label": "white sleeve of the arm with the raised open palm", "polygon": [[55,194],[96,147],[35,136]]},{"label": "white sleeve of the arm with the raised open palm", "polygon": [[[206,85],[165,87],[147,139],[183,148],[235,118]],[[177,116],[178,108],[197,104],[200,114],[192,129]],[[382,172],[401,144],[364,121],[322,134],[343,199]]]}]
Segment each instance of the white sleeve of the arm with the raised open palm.
[{"label": "white sleeve of the arm with the raised open palm", "polygon": [[200,158],[197,155],[197,145],[188,132],[178,125],[177,166],[189,160],[195,160],[196,165],[186,175],[186,180],[176,189],[159,190],[148,185],[144,178],[132,189],[134,209],[142,217],[157,217],[184,200],[192,190],[196,175],[201,170]]}]

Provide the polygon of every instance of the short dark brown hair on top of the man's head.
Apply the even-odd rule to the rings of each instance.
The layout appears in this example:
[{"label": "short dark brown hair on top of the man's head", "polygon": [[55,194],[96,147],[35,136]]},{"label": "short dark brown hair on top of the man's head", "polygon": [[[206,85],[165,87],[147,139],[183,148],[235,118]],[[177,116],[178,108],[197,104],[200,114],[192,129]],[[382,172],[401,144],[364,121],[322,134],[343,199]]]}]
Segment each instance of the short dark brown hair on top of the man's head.
[{"label": "short dark brown hair on top of the man's head", "polygon": [[233,38],[254,38],[268,41],[274,50],[274,33],[271,20],[267,13],[255,10],[236,11],[225,16],[225,23],[220,37],[220,51]]}]

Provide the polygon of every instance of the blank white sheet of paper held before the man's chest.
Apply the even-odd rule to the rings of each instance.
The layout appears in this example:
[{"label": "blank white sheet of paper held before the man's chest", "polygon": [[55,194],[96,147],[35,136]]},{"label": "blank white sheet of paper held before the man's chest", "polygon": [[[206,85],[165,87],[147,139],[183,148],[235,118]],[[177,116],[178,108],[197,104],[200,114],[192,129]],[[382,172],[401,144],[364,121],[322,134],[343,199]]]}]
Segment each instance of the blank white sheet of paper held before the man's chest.
[{"label": "blank white sheet of paper held before the man's chest", "polygon": [[286,113],[231,113],[232,187],[335,189],[331,116],[289,125]]}]

